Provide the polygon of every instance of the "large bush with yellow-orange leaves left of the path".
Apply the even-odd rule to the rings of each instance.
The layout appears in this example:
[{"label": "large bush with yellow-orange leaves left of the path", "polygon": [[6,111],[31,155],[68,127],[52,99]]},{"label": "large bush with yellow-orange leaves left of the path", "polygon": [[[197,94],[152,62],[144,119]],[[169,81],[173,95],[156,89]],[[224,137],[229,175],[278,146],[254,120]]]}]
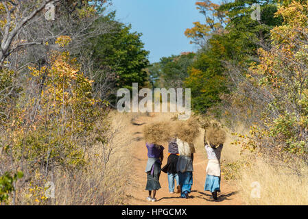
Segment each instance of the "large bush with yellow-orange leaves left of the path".
[{"label": "large bush with yellow-orange leaves left of the path", "polygon": [[[70,38],[62,36],[61,47]],[[106,112],[92,97],[92,83],[68,52],[54,52],[51,66],[29,66],[28,85],[32,95],[21,99],[6,125],[5,151],[31,168],[49,170],[56,166],[80,167],[86,164],[85,152],[104,140],[108,123]],[[98,120],[104,120],[95,127]],[[95,131],[95,133],[93,132]]]}]

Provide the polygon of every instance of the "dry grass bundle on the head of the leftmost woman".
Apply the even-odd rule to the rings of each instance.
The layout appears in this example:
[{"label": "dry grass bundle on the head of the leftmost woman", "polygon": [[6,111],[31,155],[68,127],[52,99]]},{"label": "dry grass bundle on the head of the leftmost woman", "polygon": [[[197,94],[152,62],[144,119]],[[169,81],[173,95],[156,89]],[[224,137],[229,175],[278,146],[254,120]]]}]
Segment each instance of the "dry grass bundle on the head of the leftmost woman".
[{"label": "dry grass bundle on the head of the leftmost woman", "polygon": [[147,143],[162,144],[167,142],[174,133],[171,122],[157,122],[145,125],[143,128],[143,138]]}]

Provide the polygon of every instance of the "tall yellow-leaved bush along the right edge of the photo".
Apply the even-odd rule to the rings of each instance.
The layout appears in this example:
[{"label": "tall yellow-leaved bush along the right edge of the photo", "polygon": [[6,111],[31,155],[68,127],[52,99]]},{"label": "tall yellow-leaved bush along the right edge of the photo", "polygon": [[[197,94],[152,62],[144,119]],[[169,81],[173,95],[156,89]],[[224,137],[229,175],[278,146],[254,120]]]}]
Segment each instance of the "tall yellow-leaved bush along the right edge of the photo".
[{"label": "tall yellow-leaved bush along the right edge of the photo", "polygon": [[271,49],[259,49],[260,63],[252,64],[247,75],[252,89],[245,93],[262,107],[250,136],[241,136],[243,146],[276,157],[287,153],[285,162],[308,158],[307,8],[297,1],[279,7],[276,16],[283,17],[283,25],[272,29]]}]

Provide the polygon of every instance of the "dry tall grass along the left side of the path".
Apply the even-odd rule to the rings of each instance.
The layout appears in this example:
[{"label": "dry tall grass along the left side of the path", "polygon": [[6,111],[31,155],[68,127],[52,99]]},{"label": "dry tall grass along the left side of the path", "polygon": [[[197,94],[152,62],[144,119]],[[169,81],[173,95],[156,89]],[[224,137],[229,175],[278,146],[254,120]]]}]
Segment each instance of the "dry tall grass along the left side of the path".
[{"label": "dry tall grass along the left side of the path", "polygon": [[[46,175],[43,169],[28,171],[16,182],[10,205],[121,205],[130,186],[130,138],[121,115],[110,113],[108,140],[86,151],[81,168],[55,168]],[[99,125],[99,124],[98,124]],[[0,170],[10,168],[10,157],[0,153]],[[6,168],[5,168],[6,167]],[[54,185],[54,197],[47,184]],[[50,184],[49,184],[50,185]]]}]

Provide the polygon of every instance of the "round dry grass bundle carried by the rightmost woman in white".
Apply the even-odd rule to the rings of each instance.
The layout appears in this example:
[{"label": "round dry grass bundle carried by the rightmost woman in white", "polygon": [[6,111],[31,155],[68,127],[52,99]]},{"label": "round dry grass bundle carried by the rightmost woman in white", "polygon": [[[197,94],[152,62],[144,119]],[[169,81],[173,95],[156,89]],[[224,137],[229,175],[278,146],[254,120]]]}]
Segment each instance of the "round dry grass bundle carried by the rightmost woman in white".
[{"label": "round dry grass bundle carried by the rightmost woman in white", "polygon": [[217,126],[211,125],[204,133],[204,143],[208,142],[211,146],[219,146],[226,141],[226,132]]}]

